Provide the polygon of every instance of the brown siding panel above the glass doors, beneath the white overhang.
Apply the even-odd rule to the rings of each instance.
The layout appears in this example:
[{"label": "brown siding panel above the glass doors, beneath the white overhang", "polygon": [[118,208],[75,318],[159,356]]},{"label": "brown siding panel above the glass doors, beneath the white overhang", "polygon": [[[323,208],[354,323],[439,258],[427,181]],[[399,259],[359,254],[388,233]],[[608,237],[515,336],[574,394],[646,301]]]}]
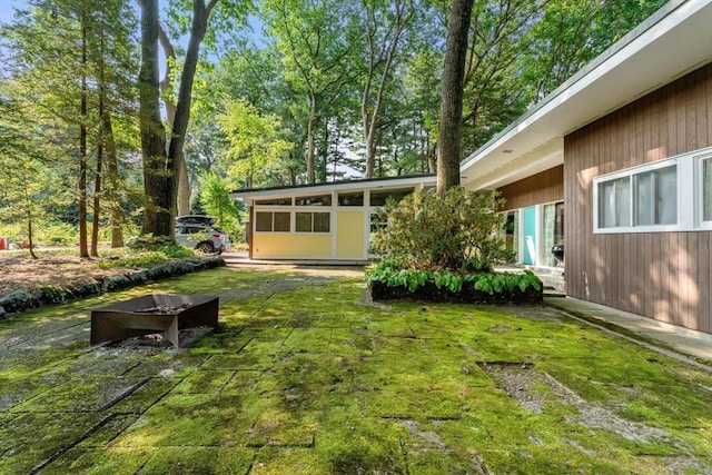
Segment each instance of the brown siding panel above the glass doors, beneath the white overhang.
[{"label": "brown siding panel above the glass doors, beneath the white overhang", "polygon": [[504,186],[500,192],[506,200],[505,209],[561,201],[564,199],[564,166]]}]

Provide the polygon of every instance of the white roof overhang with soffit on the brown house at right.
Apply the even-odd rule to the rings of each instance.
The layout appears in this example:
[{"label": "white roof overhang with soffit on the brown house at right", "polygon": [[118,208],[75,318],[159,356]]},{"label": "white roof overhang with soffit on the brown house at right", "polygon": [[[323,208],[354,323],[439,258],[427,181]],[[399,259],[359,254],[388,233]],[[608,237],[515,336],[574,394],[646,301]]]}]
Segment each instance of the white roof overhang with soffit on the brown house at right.
[{"label": "white roof overhang with soffit on the brown house at right", "polygon": [[712,0],[673,0],[461,164],[497,188],[564,162],[563,137],[712,60]]}]

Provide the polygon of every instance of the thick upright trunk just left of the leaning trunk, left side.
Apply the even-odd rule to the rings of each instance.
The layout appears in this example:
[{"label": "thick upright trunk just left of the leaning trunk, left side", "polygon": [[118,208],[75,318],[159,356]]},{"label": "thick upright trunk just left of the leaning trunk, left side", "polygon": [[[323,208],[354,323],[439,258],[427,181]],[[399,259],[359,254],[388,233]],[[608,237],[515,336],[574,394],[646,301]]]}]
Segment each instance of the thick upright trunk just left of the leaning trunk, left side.
[{"label": "thick upright trunk just left of the leaning trunk, left side", "polygon": [[141,2],[141,69],[139,103],[144,156],[144,234],[172,237],[175,170],[166,156],[166,130],[160,119],[158,88],[158,0]]}]

